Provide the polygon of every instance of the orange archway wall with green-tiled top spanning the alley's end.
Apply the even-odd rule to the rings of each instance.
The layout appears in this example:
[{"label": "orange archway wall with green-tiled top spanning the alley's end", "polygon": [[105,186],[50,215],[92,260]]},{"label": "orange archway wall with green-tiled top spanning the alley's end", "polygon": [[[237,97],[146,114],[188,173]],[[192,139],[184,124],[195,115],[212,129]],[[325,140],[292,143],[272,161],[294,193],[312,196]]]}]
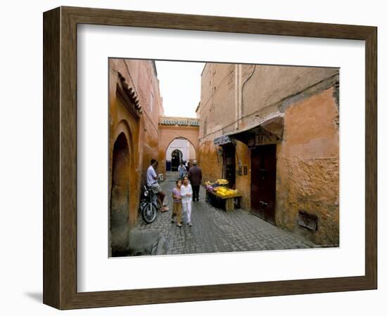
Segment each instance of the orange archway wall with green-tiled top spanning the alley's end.
[{"label": "orange archway wall with green-tiled top spanning the alley's end", "polygon": [[[158,133],[158,172],[165,175],[167,162],[167,148],[176,139],[186,139],[194,147],[196,160],[199,148],[199,123],[198,119],[182,117],[160,117]],[[200,162],[199,162],[200,163]]]}]

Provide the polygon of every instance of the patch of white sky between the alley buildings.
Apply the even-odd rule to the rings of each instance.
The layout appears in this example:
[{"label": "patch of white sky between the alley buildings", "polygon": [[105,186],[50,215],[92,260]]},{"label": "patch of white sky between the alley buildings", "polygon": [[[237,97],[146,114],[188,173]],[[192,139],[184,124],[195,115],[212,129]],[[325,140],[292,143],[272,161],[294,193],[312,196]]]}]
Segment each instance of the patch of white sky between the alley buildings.
[{"label": "patch of white sky between the alley buildings", "polygon": [[164,115],[196,117],[195,110],[201,100],[201,72],[205,63],[159,60],[155,62]]}]

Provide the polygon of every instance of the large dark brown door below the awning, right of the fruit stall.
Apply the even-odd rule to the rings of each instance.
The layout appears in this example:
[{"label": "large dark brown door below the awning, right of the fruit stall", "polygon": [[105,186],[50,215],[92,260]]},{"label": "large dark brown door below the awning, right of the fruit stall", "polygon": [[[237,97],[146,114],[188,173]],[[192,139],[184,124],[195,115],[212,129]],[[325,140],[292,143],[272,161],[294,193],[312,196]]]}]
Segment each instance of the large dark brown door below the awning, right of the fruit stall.
[{"label": "large dark brown door below the awning, right of the fruit stall", "polygon": [[274,224],[276,197],[276,145],[251,151],[251,211]]}]

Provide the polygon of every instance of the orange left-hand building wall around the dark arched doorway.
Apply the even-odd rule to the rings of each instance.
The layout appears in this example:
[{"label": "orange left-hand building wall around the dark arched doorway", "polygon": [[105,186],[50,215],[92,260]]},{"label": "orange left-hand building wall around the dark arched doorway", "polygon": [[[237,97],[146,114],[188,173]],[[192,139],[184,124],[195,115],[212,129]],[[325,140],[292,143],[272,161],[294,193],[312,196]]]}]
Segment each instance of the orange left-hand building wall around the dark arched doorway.
[{"label": "orange left-hand building wall around the dark arched doorway", "polygon": [[[118,73],[139,98],[142,114],[136,119],[117,96]],[[148,162],[158,156],[158,117],[163,109],[156,69],[149,60],[109,59],[109,188],[111,187],[113,145],[124,132],[129,147],[129,226],[138,218],[141,181]],[[109,190],[110,195],[110,190]],[[110,200],[110,196],[109,196]]]}]

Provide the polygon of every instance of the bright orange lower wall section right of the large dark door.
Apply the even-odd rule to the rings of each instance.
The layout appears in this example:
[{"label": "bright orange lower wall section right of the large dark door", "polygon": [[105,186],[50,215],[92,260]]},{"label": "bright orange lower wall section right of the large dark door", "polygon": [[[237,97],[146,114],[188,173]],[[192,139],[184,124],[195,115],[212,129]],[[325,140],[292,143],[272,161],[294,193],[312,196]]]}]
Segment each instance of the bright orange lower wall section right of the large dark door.
[{"label": "bright orange lower wall section right of the large dark door", "polygon": [[[288,107],[277,145],[276,223],[317,244],[339,240],[338,107],[329,88]],[[298,211],[319,218],[317,232],[297,225]]]}]

